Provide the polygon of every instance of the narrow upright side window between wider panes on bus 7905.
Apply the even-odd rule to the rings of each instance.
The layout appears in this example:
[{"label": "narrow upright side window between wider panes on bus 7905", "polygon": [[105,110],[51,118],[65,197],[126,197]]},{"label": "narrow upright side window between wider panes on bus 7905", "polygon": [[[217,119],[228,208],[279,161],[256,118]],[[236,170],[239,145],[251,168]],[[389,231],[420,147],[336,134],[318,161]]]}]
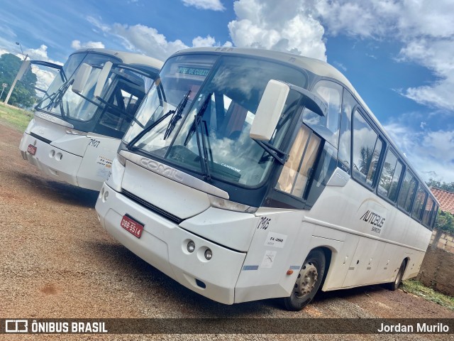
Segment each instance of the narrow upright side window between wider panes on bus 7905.
[{"label": "narrow upright side window between wider panes on bus 7905", "polygon": [[341,129],[339,131],[338,166],[350,174],[352,146],[352,112],[356,105],[355,98],[347,90],[343,90]]}]

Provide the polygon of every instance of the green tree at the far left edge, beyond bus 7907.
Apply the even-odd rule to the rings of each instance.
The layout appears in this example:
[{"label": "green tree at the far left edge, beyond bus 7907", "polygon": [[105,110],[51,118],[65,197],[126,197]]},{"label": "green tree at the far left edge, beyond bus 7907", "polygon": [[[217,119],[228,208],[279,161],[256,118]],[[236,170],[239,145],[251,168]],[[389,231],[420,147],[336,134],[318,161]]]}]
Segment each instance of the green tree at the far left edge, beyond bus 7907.
[{"label": "green tree at the far left edge, beyond bus 7907", "polygon": [[[6,94],[9,92],[21,65],[22,60],[16,57],[16,55],[5,53],[0,56],[0,85],[2,83],[8,85],[4,90],[4,97],[1,98],[1,101],[4,101],[6,98]],[[36,102],[35,86],[37,80],[38,78],[33,72],[26,72],[26,75],[23,76],[22,80],[16,83],[9,103],[18,105],[19,107],[33,106]]]}]

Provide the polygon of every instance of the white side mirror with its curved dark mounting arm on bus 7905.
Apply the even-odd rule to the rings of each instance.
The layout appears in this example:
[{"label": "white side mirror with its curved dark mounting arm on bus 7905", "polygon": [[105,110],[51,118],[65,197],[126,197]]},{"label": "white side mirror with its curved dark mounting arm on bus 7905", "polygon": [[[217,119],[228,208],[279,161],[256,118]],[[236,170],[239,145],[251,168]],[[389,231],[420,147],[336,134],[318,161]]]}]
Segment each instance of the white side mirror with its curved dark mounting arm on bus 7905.
[{"label": "white side mirror with its curved dark mounting arm on bus 7905", "polygon": [[277,121],[279,121],[279,117],[281,117],[284,110],[284,104],[287,101],[290,90],[301,94],[304,99],[303,104],[307,109],[322,117],[328,113],[328,104],[319,95],[296,85],[287,84],[279,80],[270,80],[258,104],[253,125],[250,127],[249,136],[251,139],[270,141],[276,129]]}]

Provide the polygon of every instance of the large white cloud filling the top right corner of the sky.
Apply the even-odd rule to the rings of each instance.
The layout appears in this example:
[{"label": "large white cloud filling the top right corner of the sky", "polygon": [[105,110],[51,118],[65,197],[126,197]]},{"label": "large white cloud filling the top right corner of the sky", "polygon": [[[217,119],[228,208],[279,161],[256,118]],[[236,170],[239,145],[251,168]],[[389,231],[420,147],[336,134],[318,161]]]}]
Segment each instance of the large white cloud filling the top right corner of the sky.
[{"label": "large white cloud filling the top right corner of the sky", "polygon": [[[311,8],[310,1],[304,1]],[[328,35],[394,39],[398,60],[419,63],[439,80],[400,92],[421,104],[454,109],[454,1],[319,0],[311,9]]]}]

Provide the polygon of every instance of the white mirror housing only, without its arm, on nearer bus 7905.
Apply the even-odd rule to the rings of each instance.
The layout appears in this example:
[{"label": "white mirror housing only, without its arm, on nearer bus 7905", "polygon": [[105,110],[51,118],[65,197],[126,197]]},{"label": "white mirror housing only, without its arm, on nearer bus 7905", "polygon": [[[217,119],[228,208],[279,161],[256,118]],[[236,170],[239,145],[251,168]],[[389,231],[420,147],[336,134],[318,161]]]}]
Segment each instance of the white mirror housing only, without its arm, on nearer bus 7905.
[{"label": "white mirror housing only, without its arm, on nearer bus 7905", "polygon": [[249,136],[251,139],[260,141],[270,141],[275,132],[277,121],[281,117],[285,101],[289,95],[290,87],[284,82],[270,80],[262,99],[258,104],[257,112]]}]

